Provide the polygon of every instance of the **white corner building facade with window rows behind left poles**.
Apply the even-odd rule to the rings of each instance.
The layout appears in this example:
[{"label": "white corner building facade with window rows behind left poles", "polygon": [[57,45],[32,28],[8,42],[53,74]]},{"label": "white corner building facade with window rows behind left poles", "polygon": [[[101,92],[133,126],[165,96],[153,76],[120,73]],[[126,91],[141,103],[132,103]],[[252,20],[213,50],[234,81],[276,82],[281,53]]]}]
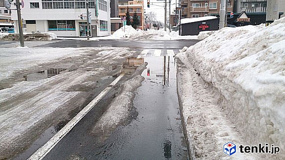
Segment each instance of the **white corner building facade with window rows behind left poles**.
[{"label": "white corner building facade with window rows behind left poles", "polygon": [[[90,36],[111,34],[110,0],[88,0]],[[53,32],[62,37],[86,37],[86,0],[25,0],[21,8],[24,32]],[[11,18],[18,29],[17,12]]]}]

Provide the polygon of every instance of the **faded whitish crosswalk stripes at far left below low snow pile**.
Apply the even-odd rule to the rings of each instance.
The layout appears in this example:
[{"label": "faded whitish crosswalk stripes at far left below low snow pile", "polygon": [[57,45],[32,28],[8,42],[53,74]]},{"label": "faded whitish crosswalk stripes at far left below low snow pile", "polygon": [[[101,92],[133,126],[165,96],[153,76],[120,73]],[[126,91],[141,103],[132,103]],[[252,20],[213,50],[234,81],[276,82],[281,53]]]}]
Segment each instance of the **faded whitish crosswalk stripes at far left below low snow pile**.
[{"label": "faded whitish crosswalk stripes at far left below low snow pile", "polygon": [[[0,48],[20,47],[20,42],[6,43],[1,42]],[[45,44],[56,43],[58,41],[25,41],[25,47],[37,47]]]}]

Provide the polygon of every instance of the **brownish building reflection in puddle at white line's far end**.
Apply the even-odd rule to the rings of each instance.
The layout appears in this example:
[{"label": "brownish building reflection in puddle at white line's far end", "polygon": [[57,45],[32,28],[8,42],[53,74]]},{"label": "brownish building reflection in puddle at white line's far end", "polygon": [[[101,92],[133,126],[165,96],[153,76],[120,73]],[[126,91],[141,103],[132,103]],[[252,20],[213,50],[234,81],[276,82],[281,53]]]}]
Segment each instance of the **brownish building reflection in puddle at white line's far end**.
[{"label": "brownish building reflection in puddle at white line's far end", "polygon": [[126,58],[126,62],[123,65],[123,72],[125,74],[133,74],[136,68],[144,63],[144,58]]}]

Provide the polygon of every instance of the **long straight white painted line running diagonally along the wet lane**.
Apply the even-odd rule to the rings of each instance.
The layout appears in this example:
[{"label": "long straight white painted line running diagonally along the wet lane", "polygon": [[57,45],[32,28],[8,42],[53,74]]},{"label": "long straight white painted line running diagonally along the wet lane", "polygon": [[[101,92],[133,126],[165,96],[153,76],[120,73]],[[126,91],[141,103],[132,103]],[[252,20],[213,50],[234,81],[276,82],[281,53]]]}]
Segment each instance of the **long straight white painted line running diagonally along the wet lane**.
[{"label": "long straight white painted line running diagonally along the wet lane", "polygon": [[83,108],[72,120],[70,120],[60,131],[58,131],[46,144],[39,148],[28,160],[42,160],[57,143],[71,131],[71,129],[113,88],[113,86],[124,76],[122,73],[97,97],[95,97],[85,108]]}]

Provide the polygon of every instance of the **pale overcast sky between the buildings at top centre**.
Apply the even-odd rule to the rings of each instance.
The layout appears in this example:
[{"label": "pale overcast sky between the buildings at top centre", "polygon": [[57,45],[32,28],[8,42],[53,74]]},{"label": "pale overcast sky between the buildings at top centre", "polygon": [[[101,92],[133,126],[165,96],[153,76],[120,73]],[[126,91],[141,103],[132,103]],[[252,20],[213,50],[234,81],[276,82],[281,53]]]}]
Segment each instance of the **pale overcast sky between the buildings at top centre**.
[{"label": "pale overcast sky between the buildings at top centre", "polygon": [[[171,0],[171,12],[173,12],[173,9],[175,8],[175,1],[176,0]],[[151,2],[162,2],[162,3],[151,3]],[[168,9],[167,9],[167,14],[169,15],[169,0],[167,0],[167,5],[168,5]],[[177,0],[178,2],[178,0]],[[160,6],[157,6],[160,5]],[[164,23],[164,0],[163,1],[157,1],[157,0],[150,0],[150,8],[147,8],[147,0],[144,0],[144,9],[145,9],[145,13],[147,12],[155,12],[157,15],[157,20],[161,21],[162,23]]]}]

